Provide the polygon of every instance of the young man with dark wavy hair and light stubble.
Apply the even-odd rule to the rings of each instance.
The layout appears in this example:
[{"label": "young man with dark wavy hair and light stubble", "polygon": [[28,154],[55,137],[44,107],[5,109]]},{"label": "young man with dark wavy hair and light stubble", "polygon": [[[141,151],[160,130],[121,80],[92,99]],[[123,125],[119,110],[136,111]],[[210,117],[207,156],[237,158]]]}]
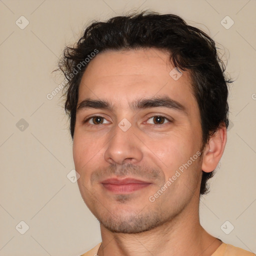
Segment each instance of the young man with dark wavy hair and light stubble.
[{"label": "young man with dark wavy hair and light stubble", "polygon": [[102,242],[83,255],[254,255],[199,223],[226,143],[214,41],[179,16],[94,22],[64,51],[65,109],[81,196]]}]

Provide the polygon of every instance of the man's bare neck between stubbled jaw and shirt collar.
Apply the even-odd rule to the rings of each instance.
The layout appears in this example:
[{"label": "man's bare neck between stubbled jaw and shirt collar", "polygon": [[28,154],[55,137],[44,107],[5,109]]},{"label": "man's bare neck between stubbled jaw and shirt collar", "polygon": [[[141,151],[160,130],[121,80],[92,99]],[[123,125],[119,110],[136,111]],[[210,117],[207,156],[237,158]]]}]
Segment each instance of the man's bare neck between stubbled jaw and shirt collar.
[{"label": "man's bare neck between stubbled jaw and shirt collar", "polygon": [[113,233],[102,224],[100,230],[99,256],[209,256],[221,244],[200,225],[198,208],[189,205],[170,221],[148,231]]}]

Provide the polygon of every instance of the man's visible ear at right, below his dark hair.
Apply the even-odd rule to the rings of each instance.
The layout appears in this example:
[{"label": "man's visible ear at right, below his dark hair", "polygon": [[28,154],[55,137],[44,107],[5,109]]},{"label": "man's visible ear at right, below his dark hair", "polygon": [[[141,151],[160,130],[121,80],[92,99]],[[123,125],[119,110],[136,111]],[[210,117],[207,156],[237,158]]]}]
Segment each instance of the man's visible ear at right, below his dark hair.
[{"label": "man's visible ear at right, below his dark hair", "polygon": [[222,124],[204,147],[202,157],[202,170],[204,172],[211,172],[216,168],[223,154],[225,144],[226,126]]}]

